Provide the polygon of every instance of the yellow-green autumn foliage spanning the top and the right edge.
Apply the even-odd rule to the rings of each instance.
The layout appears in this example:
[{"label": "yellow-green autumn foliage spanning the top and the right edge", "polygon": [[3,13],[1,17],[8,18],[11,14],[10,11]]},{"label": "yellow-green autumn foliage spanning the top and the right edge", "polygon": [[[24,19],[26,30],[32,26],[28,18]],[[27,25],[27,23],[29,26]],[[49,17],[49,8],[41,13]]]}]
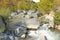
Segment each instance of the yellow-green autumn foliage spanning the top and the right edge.
[{"label": "yellow-green autumn foliage spanning the top and the right edge", "polygon": [[[42,14],[49,13],[51,10],[55,10],[60,6],[60,0],[40,0],[35,3],[32,0],[0,0],[0,15],[5,19],[11,11],[15,10],[39,10]],[[55,23],[60,21],[59,13],[55,14]]]}]

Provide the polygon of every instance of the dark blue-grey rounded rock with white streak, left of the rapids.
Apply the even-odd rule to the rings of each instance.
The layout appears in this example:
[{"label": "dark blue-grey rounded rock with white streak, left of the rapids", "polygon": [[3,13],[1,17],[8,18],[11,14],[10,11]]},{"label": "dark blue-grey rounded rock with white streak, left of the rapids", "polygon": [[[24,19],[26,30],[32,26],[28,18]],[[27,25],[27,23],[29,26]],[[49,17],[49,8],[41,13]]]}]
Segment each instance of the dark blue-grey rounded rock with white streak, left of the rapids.
[{"label": "dark blue-grey rounded rock with white streak, left of the rapids", "polygon": [[21,36],[27,32],[27,25],[24,21],[21,21],[15,24],[14,29],[15,29],[15,35]]}]

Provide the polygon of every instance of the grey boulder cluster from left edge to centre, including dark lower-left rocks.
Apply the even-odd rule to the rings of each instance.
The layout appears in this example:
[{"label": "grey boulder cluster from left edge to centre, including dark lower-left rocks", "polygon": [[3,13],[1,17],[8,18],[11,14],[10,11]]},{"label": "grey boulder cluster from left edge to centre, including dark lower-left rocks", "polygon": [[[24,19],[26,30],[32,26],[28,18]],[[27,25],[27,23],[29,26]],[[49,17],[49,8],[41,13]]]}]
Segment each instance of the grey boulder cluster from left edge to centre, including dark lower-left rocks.
[{"label": "grey boulder cluster from left edge to centre, including dark lower-left rocks", "polygon": [[0,40],[15,40],[16,37],[26,34],[30,25],[30,28],[34,25],[37,28],[40,25],[37,18],[40,16],[42,15],[40,15],[39,11],[17,10],[9,15],[6,24],[3,17],[0,16]]}]

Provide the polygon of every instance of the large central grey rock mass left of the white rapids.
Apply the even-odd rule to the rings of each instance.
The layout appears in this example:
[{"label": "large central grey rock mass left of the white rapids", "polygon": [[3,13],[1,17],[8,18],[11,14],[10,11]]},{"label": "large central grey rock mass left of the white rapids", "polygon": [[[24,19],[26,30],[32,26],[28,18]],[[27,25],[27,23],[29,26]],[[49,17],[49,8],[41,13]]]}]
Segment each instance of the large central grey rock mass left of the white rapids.
[{"label": "large central grey rock mass left of the white rapids", "polygon": [[27,32],[27,28],[37,29],[40,26],[38,20],[38,11],[20,11],[12,12],[9,16],[7,28],[13,31],[15,36],[22,36]]}]

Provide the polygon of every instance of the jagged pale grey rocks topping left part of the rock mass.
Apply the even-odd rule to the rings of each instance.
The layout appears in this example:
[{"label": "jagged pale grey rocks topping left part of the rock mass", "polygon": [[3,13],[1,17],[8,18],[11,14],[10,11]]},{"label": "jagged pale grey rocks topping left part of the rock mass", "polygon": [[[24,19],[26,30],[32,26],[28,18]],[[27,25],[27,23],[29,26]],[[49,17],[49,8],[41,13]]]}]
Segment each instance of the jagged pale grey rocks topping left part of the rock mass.
[{"label": "jagged pale grey rocks topping left part of the rock mass", "polygon": [[9,16],[9,19],[16,19],[16,18],[22,18],[26,11],[24,10],[16,10],[15,12],[12,12]]}]

